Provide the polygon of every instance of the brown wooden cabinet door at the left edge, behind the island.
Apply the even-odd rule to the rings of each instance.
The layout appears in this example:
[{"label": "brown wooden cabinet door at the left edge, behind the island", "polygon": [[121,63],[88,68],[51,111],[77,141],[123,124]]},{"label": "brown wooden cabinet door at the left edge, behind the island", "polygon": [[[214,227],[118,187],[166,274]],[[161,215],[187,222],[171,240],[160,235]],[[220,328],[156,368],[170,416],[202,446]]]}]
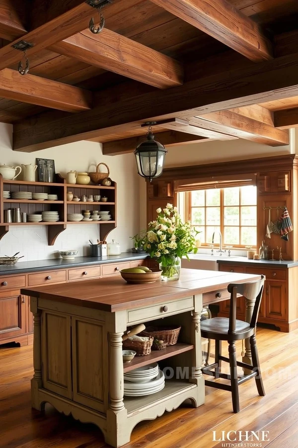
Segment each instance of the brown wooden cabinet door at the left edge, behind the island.
[{"label": "brown wooden cabinet door at the left edge, behind the island", "polygon": [[26,298],[17,291],[0,294],[0,340],[26,333]]}]

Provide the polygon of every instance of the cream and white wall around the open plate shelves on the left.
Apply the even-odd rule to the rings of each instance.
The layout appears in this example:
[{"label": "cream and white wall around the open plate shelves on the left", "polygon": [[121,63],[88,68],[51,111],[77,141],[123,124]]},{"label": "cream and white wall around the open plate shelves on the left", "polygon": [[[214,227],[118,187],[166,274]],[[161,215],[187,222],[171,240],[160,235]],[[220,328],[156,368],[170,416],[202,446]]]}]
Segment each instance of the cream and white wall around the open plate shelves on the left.
[{"label": "cream and white wall around the open plate shelves on the left", "polygon": [[[109,166],[110,177],[117,182],[118,226],[109,234],[108,240],[114,238],[121,244],[122,252],[128,251],[132,246],[129,237],[139,231],[139,179],[134,155],[103,156],[101,144],[89,141],[34,153],[16,152],[12,151],[12,126],[0,123],[0,165],[34,164],[36,157],[54,159],[56,172],[63,176],[70,170],[94,171],[99,162]],[[54,258],[54,250],[66,248],[79,249],[78,255],[86,255],[88,239],[96,241],[99,237],[97,225],[74,224],[58,236],[54,246],[48,246],[46,230],[45,225],[11,226],[0,240],[0,255],[20,251],[24,255],[23,261],[37,260]]]}]

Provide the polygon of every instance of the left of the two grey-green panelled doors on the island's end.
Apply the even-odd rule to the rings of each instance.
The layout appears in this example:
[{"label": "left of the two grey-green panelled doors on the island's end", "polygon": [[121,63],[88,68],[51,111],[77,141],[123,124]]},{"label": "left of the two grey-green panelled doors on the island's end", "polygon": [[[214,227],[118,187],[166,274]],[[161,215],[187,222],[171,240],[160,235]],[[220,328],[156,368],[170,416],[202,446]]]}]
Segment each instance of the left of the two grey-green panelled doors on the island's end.
[{"label": "left of the two grey-green panelled doors on the island's end", "polygon": [[71,317],[42,311],[43,387],[72,398]]}]

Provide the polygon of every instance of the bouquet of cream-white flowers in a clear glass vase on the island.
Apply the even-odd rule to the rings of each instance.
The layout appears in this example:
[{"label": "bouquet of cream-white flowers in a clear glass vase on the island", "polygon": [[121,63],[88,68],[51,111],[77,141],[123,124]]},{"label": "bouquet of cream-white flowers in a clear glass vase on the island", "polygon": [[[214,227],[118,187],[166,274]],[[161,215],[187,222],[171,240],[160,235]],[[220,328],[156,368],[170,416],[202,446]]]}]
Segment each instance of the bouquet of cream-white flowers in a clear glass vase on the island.
[{"label": "bouquet of cream-white flowers in a clear glass vase on the island", "polygon": [[[180,267],[180,259],[192,251],[197,252],[200,245],[195,236],[200,233],[189,223],[183,223],[178,215],[177,207],[167,204],[166,208],[156,210],[157,218],[148,224],[148,231],[144,238],[144,249],[151,258],[160,263],[163,273],[172,277]],[[179,259],[177,263],[176,259]],[[166,269],[167,268],[167,269]],[[172,274],[172,275],[170,275]]]}]

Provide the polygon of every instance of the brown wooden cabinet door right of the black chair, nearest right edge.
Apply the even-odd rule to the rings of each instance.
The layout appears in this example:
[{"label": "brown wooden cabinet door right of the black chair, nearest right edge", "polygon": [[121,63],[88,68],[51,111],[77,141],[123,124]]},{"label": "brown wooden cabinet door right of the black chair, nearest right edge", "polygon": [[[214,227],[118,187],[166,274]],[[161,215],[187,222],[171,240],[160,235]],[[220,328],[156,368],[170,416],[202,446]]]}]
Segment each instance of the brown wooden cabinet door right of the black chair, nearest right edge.
[{"label": "brown wooden cabinet door right of the black chair, nearest right edge", "polygon": [[287,319],[286,282],[266,281],[266,317]]}]

